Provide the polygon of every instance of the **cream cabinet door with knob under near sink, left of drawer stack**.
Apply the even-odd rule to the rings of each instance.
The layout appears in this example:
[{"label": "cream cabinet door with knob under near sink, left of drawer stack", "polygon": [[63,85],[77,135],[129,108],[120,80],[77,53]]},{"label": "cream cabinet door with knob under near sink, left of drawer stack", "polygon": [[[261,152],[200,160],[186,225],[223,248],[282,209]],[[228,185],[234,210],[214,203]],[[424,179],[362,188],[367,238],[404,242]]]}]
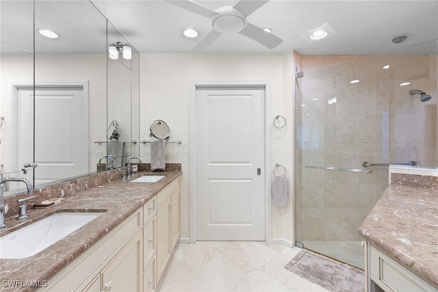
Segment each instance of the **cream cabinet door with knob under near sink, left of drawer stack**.
[{"label": "cream cabinet door with knob under near sink, left of drawer stack", "polygon": [[142,290],[142,233],[137,233],[103,269],[103,291]]}]

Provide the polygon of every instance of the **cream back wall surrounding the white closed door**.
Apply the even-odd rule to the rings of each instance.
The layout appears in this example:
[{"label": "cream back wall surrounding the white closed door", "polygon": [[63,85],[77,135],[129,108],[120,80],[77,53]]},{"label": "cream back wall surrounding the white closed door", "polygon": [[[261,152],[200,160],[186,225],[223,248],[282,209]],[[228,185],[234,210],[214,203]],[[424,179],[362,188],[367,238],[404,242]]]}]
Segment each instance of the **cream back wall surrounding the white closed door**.
[{"label": "cream back wall surrounding the white closed door", "polygon": [[[168,163],[182,163],[181,237],[190,236],[190,93],[192,81],[270,81],[271,113],[287,119],[282,131],[271,131],[272,174],[275,163],[284,165],[289,180],[289,205],[272,207],[272,238],[294,243],[293,187],[293,70],[292,53],[285,54],[141,54],[140,140],[149,140],[149,124],[165,120],[170,127]],[[270,121],[272,124],[272,121]],[[144,162],[150,161],[149,144],[140,146]],[[280,240],[281,241],[281,240]]]}]

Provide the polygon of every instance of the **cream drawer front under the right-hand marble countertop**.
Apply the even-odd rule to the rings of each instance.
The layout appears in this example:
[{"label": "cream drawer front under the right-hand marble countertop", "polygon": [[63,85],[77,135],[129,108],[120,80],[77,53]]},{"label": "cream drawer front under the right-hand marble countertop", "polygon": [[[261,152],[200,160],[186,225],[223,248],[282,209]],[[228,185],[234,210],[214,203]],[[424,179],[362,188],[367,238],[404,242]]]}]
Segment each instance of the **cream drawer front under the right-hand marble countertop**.
[{"label": "cream drawer front under the right-hand marble countertop", "polygon": [[438,291],[372,245],[370,263],[371,280],[385,291]]}]

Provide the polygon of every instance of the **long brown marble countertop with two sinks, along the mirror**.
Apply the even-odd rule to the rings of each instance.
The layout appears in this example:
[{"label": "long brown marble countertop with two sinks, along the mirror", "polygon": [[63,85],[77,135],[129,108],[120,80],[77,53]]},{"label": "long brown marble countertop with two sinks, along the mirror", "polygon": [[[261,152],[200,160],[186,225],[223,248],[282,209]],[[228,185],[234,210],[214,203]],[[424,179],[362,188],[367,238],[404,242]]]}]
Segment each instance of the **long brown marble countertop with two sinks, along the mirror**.
[{"label": "long brown marble countertop with two sinks, along the mirror", "polygon": [[[138,172],[135,178],[144,174],[157,172]],[[165,171],[166,176],[155,183],[130,183],[135,178],[125,181],[118,179],[81,191],[74,196],[67,196],[65,202],[48,209],[32,209],[25,222],[10,218],[10,226],[0,230],[0,236],[16,230],[27,222],[34,222],[42,217],[63,211],[105,211],[92,222],[75,230],[70,235],[57,241],[49,248],[34,256],[18,259],[0,259],[1,291],[34,291],[34,287],[25,287],[29,281],[47,281],[62,270],[75,258],[88,250],[90,246],[113,230],[120,222],[140,209],[153,196],[159,193],[176,178],[181,171]],[[38,195],[37,195],[38,198]],[[18,223],[17,223],[18,222]],[[21,222],[21,223],[20,223]],[[20,226],[17,226],[20,225]],[[6,281],[17,281],[16,287]]]}]

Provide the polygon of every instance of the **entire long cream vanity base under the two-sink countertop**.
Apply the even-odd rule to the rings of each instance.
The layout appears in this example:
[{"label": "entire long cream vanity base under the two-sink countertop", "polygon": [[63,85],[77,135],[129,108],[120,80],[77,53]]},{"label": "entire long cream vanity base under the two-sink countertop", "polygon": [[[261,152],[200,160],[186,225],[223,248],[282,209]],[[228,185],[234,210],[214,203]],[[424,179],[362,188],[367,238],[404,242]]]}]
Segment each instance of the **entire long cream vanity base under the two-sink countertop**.
[{"label": "entire long cream vanity base under the two-sink countertop", "polygon": [[48,282],[47,291],[153,292],[180,235],[180,178]]}]

